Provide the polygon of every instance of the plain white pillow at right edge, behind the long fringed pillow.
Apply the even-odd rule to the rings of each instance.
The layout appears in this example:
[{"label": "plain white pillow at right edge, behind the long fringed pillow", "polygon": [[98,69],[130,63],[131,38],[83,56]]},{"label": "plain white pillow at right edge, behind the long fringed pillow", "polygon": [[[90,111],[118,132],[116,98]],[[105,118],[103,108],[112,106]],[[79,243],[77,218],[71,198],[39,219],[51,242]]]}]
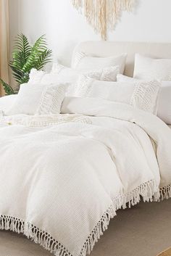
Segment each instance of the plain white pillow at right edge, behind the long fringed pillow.
[{"label": "plain white pillow at right edge, behind the long fringed pillow", "polygon": [[[126,75],[117,75],[117,81],[135,83],[138,80]],[[171,125],[171,81],[162,81],[157,104],[157,116]]]}]

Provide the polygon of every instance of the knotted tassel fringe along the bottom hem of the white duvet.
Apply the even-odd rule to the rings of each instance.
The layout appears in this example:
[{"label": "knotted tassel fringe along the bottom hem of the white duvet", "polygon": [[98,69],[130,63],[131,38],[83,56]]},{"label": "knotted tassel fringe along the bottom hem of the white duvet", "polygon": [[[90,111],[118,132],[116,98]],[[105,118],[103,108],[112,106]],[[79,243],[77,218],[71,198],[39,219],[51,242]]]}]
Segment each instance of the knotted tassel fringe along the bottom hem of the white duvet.
[{"label": "knotted tassel fringe along the bottom hem of the white duvet", "polygon": [[[91,234],[88,236],[88,239],[86,239],[85,244],[83,244],[83,249],[80,252],[80,256],[90,254],[96,241],[98,241],[104,231],[107,230],[109,221],[111,218],[114,218],[117,210],[131,207],[131,205],[136,205],[138,202],[140,202],[141,197],[143,202],[168,199],[171,197],[171,185],[158,189],[155,181],[151,180],[141,184],[141,186],[128,194],[121,194],[117,198],[114,198],[113,204],[106,212],[104,212],[101,220],[99,220],[99,222],[93,228],[93,231],[91,231]],[[40,244],[42,247],[48,249],[56,256],[72,256],[70,252],[68,252],[67,249],[57,240],[55,240],[50,234],[46,233],[45,231],[41,231],[36,226],[33,226],[33,224],[20,220],[19,218],[1,215],[0,229],[14,231],[18,234],[25,234],[25,236],[32,239],[34,242],[36,242],[36,244]]]}]

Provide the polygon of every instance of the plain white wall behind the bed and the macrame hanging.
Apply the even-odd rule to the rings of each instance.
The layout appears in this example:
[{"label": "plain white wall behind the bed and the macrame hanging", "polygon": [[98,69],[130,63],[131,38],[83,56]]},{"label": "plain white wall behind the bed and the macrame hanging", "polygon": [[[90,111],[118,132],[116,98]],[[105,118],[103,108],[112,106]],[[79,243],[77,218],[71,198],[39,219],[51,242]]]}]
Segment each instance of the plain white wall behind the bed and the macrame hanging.
[{"label": "plain white wall behind the bed and the macrame hanging", "polygon": [[[72,50],[80,41],[100,36],[72,7],[72,0],[9,0],[10,39],[22,32],[35,41],[46,33],[54,59],[70,65]],[[137,0],[134,13],[124,13],[109,40],[171,42],[171,0]]]}]

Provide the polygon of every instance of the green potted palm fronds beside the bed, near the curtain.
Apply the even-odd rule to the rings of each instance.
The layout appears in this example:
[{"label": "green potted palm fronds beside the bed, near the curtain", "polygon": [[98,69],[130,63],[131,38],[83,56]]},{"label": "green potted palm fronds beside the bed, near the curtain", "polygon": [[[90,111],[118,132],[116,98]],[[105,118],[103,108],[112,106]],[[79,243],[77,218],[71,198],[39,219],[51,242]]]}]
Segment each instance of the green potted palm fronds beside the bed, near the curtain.
[{"label": "green potted palm fronds beside the bed, near the curtain", "polygon": [[[20,84],[28,83],[30,70],[34,67],[41,70],[47,63],[51,62],[52,51],[47,49],[46,38],[41,36],[33,46],[30,46],[28,38],[20,34],[17,36],[12,53],[12,61],[9,67],[12,69],[12,75],[17,82],[13,89],[3,80],[0,80],[6,94],[14,94],[20,89]],[[9,87],[8,87],[9,86]]]}]

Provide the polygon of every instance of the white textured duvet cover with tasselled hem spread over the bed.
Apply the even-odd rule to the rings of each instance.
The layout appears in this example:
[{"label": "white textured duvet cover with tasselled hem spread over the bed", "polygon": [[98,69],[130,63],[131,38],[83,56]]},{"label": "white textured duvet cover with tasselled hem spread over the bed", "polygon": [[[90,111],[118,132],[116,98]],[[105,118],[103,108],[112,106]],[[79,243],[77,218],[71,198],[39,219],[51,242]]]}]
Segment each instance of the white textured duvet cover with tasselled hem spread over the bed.
[{"label": "white textured duvet cover with tasselled hem spread over the bed", "polygon": [[170,197],[171,130],[102,99],[68,97],[62,112],[1,115],[0,228],[83,256],[117,209]]}]

